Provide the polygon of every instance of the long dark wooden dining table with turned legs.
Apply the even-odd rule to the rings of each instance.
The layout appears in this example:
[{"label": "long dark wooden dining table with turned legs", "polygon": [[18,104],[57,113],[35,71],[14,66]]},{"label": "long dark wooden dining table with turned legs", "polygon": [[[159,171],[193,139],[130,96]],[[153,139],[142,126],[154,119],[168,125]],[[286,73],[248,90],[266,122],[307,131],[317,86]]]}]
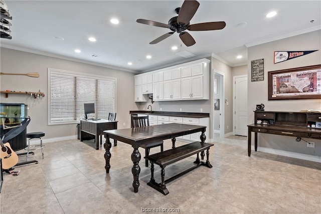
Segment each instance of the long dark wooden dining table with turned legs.
[{"label": "long dark wooden dining table with turned legs", "polygon": [[[138,147],[141,145],[152,143],[156,141],[172,139],[172,147],[175,148],[176,137],[183,136],[187,134],[202,132],[201,141],[205,142],[206,126],[196,126],[196,125],[188,125],[188,124],[178,124],[178,123],[169,123],[169,124],[161,124],[154,126],[144,126],[144,127],[136,127],[136,128],[127,128],[127,129],[118,129],[118,130],[106,130],[105,138],[106,142],[104,143],[105,152],[105,160],[106,160],[106,173],[109,173],[110,169],[110,148],[111,143],[110,139],[119,140],[121,142],[130,144],[133,147],[133,152],[131,153],[131,160],[133,166],[131,168],[131,172],[133,175],[132,186],[134,187],[134,192],[138,192],[139,187],[139,160],[141,155],[138,151]],[[202,159],[204,158],[204,152],[202,152]]]}]

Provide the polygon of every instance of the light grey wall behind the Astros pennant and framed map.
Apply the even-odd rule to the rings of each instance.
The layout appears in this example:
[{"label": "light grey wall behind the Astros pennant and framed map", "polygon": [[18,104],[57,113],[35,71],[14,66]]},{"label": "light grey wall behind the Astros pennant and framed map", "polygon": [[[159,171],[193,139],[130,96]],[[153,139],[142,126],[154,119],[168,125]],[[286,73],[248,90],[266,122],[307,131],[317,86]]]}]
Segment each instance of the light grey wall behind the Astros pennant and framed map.
[{"label": "light grey wall behind the Astros pennant and framed map", "polygon": [[[273,64],[274,51],[309,51],[314,53]],[[268,101],[268,72],[321,64],[321,31],[302,34],[274,42],[248,48],[248,124],[254,123],[256,104],[263,103],[265,111],[300,111],[302,109],[321,109],[320,99],[311,100],[273,100]],[[264,59],[264,81],[251,82],[251,61]],[[305,139],[315,142],[315,148],[307,148],[306,142],[296,142],[295,137],[259,134],[258,146],[321,156],[321,140]]]}]

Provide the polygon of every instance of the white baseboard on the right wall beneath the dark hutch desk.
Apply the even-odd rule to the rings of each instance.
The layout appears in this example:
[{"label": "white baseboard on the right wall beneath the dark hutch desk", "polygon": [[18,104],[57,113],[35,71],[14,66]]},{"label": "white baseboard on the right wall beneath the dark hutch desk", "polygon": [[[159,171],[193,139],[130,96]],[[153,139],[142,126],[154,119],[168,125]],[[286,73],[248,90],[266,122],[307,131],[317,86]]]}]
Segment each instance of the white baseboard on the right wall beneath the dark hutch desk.
[{"label": "white baseboard on the right wall beneath the dark hutch desk", "polygon": [[[257,151],[321,163],[320,156],[301,154],[301,153],[296,153],[296,152],[291,152],[291,151],[284,151],[284,150],[265,148],[265,147],[257,147]],[[251,152],[255,152],[254,145],[252,146]]]}]

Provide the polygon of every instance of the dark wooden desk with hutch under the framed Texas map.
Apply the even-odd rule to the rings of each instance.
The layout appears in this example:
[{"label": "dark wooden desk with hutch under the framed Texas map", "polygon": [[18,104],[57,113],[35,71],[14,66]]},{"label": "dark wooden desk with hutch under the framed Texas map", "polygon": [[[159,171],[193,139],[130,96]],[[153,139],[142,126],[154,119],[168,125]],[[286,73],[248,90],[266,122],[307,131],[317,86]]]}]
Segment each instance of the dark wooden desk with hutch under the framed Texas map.
[{"label": "dark wooden desk with hutch under the framed Texas map", "polygon": [[[321,113],[254,111],[254,114],[254,123],[248,125],[248,156],[251,156],[252,132],[255,151],[257,133],[321,139],[321,128],[318,128]],[[312,125],[315,127],[311,128]]]}]

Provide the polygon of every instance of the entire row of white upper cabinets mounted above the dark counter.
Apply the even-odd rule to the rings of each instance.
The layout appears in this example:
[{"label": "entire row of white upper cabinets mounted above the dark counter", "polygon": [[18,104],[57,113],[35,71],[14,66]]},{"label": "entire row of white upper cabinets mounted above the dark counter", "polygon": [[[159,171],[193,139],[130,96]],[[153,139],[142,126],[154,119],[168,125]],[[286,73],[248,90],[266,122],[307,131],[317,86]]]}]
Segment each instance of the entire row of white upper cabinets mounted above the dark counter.
[{"label": "entire row of white upper cabinets mounted above the dark counter", "polygon": [[[141,85],[141,93],[145,96],[152,93],[154,101],[208,100],[210,93],[209,63],[208,59],[200,59],[139,74],[135,76],[135,86]],[[136,102],[148,100],[142,96],[142,99],[138,99],[142,101],[137,101],[137,97],[140,97],[137,93],[135,91]]]}]

